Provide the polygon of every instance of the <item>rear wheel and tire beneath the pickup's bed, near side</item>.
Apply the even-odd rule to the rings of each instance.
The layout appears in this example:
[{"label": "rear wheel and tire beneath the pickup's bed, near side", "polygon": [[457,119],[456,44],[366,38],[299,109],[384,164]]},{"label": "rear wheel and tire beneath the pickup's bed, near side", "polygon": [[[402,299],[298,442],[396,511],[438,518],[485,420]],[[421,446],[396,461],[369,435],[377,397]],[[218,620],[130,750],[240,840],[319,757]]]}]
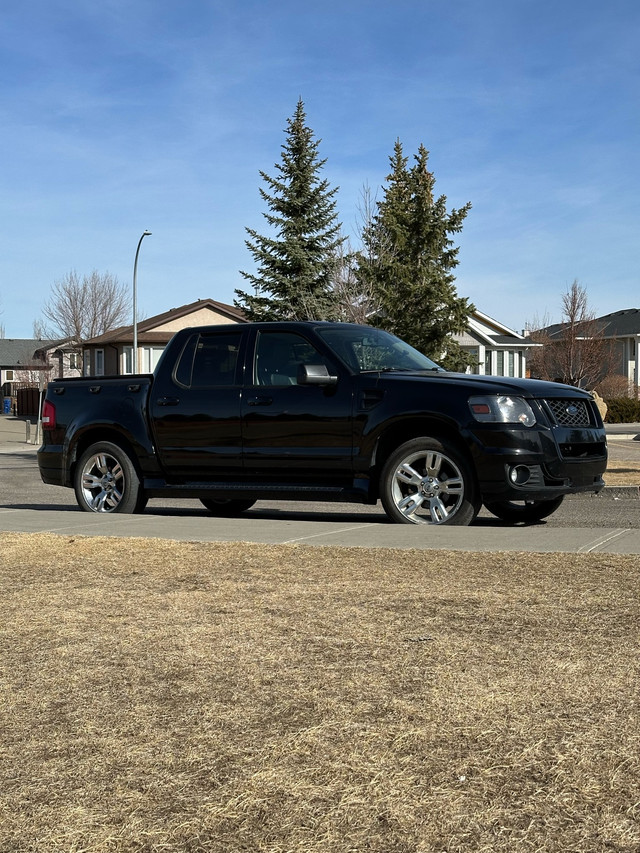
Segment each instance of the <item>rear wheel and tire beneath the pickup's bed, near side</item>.
[{"label": "rear wheel and tire beneath the pickup's bed, near side", "polygon": [[85,450],[76,465],[74,489],[84,512],[142,512],[147,503],[131,458],[110,441]]}]

